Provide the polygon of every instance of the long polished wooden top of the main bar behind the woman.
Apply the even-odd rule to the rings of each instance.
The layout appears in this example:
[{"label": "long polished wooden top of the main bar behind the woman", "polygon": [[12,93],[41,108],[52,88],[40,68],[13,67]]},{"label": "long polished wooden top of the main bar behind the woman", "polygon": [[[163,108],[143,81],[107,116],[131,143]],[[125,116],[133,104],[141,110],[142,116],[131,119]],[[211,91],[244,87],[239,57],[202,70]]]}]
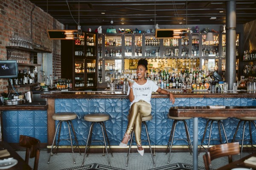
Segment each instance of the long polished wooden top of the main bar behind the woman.
[{"label": "long polished wooden top of the main bar behind the woman", "polygon": [[[255,98],[256,92],[250,91],[238,91],[233,93],[233,91],[228,92],[211,92],[211,91],[171,91],[175,98]],[[51,99],[81,99],[81,98],[113,98],[113,99],[128,99],[126,93],[122,91],[58,91],[51,92],[48,94],[41,94],[41,98],[51,98]],[[153,93],[151,98],[167,98],[164,94]]]}]

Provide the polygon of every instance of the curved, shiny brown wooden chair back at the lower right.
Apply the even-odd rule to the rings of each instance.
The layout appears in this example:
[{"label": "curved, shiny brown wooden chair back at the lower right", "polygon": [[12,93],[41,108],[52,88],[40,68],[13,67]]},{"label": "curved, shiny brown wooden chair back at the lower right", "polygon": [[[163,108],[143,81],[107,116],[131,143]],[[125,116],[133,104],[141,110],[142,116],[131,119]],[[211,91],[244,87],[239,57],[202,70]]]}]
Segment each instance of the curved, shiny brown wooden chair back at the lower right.
[{"label": "curved, shiny brown wooden chair back at the lower right", "polygon": [[205,169],[209,170],[213,159],[228,156],[229,163],[233,162],[232,156],[240,153],[239,142],[218,144],[210,147],[206,154],[203,156]]}]

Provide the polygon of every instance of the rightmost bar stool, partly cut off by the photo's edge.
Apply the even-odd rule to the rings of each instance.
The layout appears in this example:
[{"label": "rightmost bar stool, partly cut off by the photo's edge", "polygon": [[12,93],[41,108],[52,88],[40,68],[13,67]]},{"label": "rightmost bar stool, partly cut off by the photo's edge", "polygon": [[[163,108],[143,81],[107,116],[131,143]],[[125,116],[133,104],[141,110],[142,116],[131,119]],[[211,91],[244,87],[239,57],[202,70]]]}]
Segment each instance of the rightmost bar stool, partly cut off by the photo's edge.
[{"label": "rightmost bar stool, partly cut off by the photo's edge", "polygon": [[[244,127],[243,127],[243,137],[242,137],[242,145],[241,145],[241,156],[240,156],[240,159],[242,157],[242,152],[243,152],[243,147],[244,147],[244,130],[245,130],[245,125],[246,125],[246,122],[248,122],[249,124],[249,132],[250,132],[250,143],[251,143],[251,148],[252,148],[252,151],[253,151],[253,138],[252,138],[252,130],[251,130],[251,123],[253,123],[255,129],[256,129],[256,124],[255,124],[255,120],[256,120],[256,117],[238,117],[237,119],[240,119],[240,121],[238,122],[238,125],[236,127],[236,132],[235,132],[235,135],[233,137],[233,140],[232,142],[234,142],[236,139],[236,133],[238,131],[238,128],[239,128],[239,125],[241,122],[244,122]],[[239,139],[237,139],[239,140]],[[249,140],[247,140],[249,141]]]}]

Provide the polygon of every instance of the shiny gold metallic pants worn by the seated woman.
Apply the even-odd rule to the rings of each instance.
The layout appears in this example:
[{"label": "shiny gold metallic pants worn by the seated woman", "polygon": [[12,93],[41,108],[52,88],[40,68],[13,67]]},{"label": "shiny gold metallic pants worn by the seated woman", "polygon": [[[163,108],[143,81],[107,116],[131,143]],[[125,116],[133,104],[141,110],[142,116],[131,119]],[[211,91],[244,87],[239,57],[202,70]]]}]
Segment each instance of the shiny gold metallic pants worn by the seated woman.
[{"label": "shiny gold metallic pants worn by the seated woman", "polygon": [[135,133],[135,139],[137,145],[141,144],[140,134],[141,134],[141,122],[142,116],[148,116],[151,113],[151,105],[143,100],[135,102],[131,105],[129,110],[128,126],[126,129],[126,134],[131,134],[132,130]]}]

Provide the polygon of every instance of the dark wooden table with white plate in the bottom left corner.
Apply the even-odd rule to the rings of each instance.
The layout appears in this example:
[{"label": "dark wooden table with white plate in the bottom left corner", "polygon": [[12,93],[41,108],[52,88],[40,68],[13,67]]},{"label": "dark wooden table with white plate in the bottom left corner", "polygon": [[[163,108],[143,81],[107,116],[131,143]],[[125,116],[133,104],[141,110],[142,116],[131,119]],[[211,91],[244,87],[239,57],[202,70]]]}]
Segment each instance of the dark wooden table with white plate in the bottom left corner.
[{"label": "dark wooden table with white plate in the bottom left corner", "polygon": [[17,152],[7,143],[7,142],[0,142],[0,147],[3,147],[8,150],[10,153],[10,156],[1,157],[0,159],[8,159],[8,158],[14,158],[18,161],[18,163],[7,169],[7,170],[31,170],[31,167],[29,167],[28,164],[17,154]]}]

